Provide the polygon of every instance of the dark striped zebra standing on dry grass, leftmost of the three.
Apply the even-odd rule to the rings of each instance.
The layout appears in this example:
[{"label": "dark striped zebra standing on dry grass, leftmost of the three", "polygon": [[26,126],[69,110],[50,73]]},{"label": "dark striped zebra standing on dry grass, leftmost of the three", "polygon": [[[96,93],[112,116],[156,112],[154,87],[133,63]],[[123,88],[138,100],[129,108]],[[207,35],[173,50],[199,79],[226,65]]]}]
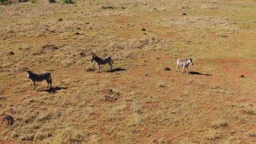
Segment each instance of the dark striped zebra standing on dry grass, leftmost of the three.
[{"label": "dark striped zebra standing on dry grass, leftmost of the three", "polygon": [[47,88],[49,87],[50,83],[50,88],[51,88],[51,74],[50,73],[42,73],[42,74],[34,74],[31,70],[27,70],[27,77],[33,82],[33,91],[34,89],[37,88],[36,86],[36,81],[43,81],[46,80],[47,82]]}]

